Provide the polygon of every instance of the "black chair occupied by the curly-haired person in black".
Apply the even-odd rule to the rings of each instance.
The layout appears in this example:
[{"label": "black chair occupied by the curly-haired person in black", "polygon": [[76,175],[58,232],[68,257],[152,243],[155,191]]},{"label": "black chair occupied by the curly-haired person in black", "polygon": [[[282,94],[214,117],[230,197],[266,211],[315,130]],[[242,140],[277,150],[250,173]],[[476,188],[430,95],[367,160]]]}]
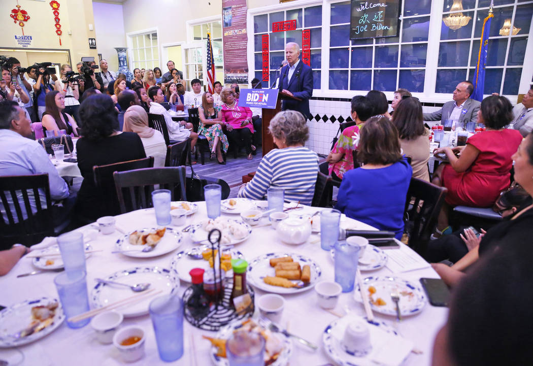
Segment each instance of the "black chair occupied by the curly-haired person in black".
[{"label": "black chair occupied by the curly-haired person in black", "polygon": [[[101,207],[101,216],[115,216],[120,214],[120,205],[115,194],[114,172],[124,172],[125,170],[151,168],[154,166],[154,157],[148,157],[138,160],[116,162],[115,164],[100,165],[93,167],[94,184],[100,190],[104,201],[107,202],[105,207]],[[83,214],[83,213],[81,213]]]}]

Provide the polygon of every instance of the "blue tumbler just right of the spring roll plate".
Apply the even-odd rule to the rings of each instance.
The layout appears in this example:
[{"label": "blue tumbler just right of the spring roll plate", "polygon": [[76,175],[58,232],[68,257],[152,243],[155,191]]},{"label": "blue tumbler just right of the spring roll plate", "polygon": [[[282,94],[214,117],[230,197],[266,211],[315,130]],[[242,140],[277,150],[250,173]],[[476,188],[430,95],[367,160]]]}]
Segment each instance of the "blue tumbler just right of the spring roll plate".
[{"label": "blue tumbler just right of the spring roll plate", "polygon": [[356,281],[360,247],[347,242],[335,243],[335,282],[341,285],[342,292],[353,290]]}]

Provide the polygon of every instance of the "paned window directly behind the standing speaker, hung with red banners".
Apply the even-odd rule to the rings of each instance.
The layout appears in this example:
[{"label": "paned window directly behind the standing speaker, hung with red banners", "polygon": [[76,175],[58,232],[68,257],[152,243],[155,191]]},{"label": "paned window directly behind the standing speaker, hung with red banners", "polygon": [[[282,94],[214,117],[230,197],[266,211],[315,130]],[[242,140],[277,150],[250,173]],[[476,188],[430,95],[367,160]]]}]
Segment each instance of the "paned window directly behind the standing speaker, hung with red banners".
[{"label": "paned window directly behind the standing speaker, hung with red banners", "polygon": [[[272,23],[286,20],[296,20],[296,29],[285,32],[272,32]],[[309,6],[304,8],[277,11],[270,14],[254,16],[254,70],[255,77],[263,79],[262,36],[269,35],[269,67],[270,78],[263,81],[263,86],[271,85],[279,74],[274,75],[274,70],[279,69],[281,61],[285,60],[285,45],[296,42],[302,45],[302,30],[311,32],[311,69],[313,71],[313,88],[320,89],[322,68],[322,6]],[[301,53],[300,53],[301,54]]]}]

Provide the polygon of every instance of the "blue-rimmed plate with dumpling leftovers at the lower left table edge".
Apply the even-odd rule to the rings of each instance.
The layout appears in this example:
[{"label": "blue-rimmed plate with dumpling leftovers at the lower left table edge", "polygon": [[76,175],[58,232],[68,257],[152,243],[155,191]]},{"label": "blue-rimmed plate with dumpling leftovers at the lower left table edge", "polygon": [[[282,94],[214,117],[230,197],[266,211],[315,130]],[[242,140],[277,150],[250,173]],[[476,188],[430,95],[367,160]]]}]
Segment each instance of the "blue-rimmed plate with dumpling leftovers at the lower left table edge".
[{"label": "blue-rimmed plate with dumpling leftovers at the lower left table edge", "polygon": [[[31,308],[39,305],[58,303],[55,309],[54,322],[43,330],[31,334],[27,337],[14,338],[11,335],[17,334],[26,329],[31,323]],[[0,348],[16,347],[31,343],[37,339],[49,335],[65,320],[63,308],[58,299],[42,297],[36,300],[26,300],[19,304],[14,304],[0,311]]]}]

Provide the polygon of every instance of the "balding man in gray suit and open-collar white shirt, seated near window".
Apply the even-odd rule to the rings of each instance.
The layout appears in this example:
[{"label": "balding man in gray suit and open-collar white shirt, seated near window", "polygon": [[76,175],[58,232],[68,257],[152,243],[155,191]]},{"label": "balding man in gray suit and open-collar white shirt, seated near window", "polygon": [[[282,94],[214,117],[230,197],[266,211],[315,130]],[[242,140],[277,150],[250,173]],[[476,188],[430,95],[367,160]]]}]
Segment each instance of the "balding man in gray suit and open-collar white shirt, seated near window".
[{"label": "balding man in gray suit and open-collar white shirt, seated near window", "polygon": [[433,113],[424,113],[425,121],[444,121],[451,119],[454,121],[452,129],[455,129],[457,122],[477,122],[478,111],[481,105],[477,100],[470,98],[474,86],[471,82],[465,81],[457,84],[454,91],[454,100],[444,103],[442,108]]}]

